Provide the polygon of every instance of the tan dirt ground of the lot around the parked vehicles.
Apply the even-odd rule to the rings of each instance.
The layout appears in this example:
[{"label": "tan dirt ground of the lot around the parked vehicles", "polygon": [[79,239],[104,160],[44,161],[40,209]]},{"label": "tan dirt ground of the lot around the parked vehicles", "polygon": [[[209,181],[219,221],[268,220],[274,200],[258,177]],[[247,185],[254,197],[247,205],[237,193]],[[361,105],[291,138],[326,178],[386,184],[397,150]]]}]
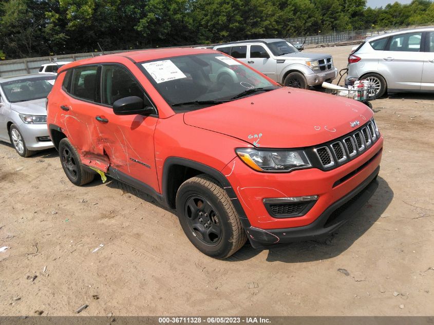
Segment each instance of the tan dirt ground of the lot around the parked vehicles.
[{"label": "tan dirt ground of the lot around the parked vehicles", "polygon": [[[343,68],[349,50],[309,51]],[[198,252],[145,195],[100,179],[74,186],[54,149],[21,158],[1,143],[0,315],[83,304],[80,315],[432,315],[434,96],[373,106],[385,145],[363,209],[328,244],[246,244],[224,261]]]}]

